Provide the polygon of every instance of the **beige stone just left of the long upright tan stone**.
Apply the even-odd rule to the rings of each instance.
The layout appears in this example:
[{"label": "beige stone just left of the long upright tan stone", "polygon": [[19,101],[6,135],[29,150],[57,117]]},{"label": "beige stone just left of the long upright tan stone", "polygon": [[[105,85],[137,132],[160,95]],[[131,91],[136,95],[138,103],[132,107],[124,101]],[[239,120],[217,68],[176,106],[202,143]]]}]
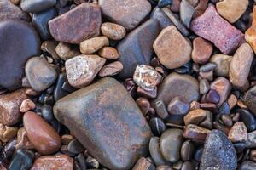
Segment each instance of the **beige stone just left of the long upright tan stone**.
[{"label": "beige stone just left of the long upright tan stone", "polygon": [[218,77],[229,77],[231,59],[232,56],[230,55],[212,55],[210,62],[216,64],[216,67],[214,68],[214,75]]}]

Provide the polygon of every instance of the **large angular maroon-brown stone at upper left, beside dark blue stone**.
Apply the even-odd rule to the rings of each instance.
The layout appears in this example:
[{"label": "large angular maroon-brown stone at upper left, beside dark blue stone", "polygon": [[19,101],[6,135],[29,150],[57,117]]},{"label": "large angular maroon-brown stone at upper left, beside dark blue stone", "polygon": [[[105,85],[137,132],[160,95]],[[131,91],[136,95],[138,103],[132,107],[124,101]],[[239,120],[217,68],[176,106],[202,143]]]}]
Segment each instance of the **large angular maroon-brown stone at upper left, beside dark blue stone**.
[{"label": "large angular maroon-brown stone at upper left, beside dark blue stone", "polygon": [[56,41],[79,44],[97,37],[102,25],[101,9],[93,3],[82,3],[49,21],[49,31]]}]

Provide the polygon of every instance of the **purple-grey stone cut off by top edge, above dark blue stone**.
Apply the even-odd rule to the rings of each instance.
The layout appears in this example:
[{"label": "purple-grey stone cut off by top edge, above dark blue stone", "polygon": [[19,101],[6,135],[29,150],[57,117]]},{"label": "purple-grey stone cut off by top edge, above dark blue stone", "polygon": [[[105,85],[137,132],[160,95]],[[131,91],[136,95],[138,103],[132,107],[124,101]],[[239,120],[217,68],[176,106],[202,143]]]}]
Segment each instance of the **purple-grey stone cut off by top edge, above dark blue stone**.
[{"label": "purple-grey stone cut off by top edge, above dark blue stone", "polygon": [[21,0],[20,8],[27,13],[38,13],[55,6],[56,0]]}]

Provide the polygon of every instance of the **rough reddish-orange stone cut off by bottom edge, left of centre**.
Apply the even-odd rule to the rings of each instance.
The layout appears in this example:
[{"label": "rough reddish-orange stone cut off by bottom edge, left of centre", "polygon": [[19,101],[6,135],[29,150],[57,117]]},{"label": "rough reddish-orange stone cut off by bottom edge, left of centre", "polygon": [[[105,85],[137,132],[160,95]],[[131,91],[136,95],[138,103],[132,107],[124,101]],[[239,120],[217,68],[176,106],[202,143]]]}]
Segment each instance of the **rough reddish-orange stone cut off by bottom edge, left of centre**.
[{"label": "rough reddish-orange stone cut off by bottom edge, left of centre", "polygon": [[73,170],[73,159],[67,155],[40,156],[31,170]]}]

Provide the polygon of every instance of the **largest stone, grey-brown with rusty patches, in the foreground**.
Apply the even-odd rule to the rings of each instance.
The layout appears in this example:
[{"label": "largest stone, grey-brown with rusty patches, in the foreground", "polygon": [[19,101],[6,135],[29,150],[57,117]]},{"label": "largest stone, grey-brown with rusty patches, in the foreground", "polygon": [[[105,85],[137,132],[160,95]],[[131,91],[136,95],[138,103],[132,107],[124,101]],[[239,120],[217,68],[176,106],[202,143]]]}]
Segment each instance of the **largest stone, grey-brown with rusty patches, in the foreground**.
[{"label": "largest stone, grey-brown with rusty patches, in the foreground", "polygon": [[138,158],[147,156],[148,123],[131,95],[113,78],[102,78],[58,100],[54,114],[105,167],[130,169]]}]

